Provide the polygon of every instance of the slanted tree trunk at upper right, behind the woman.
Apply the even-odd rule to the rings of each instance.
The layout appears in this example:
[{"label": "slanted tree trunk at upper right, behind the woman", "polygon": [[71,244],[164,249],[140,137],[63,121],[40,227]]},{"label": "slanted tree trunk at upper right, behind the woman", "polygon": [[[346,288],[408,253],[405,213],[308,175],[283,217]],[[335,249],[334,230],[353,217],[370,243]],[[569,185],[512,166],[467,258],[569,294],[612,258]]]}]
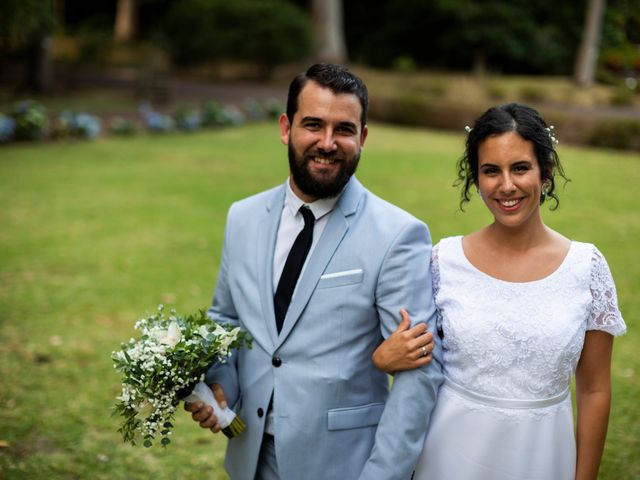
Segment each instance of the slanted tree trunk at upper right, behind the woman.
[{"label": "slanted tree trunk at upper right, behind the woman", "polygon": [[582,42],[574,71],[574,79],[581,87],[591,87],[594,83],[605,3],[605,0],[589,0],[587,5]]}]

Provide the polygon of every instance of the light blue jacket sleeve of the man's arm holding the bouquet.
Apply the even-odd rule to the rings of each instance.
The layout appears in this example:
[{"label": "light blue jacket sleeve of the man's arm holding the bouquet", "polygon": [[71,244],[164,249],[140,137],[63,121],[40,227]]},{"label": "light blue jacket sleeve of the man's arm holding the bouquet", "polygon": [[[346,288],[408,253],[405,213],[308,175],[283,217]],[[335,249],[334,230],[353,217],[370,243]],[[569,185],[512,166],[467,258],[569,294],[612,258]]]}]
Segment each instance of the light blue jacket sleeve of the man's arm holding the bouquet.
[{"label": "light blue jacket sleeve of the man's arm holding the bouquet", "polygon": [[[219,324],[239,326],[238,314],[236,312],[231,291],[229,289],[229,262],[231,245],[233,245],[233,205],[227,215],[227,224],[224,233],[222,246],[222,259],[218,270],[218,280],[211,307],[207,311],[210,319]],[[212,364],[205,374],[205,382],[208,385],[219,383],[222,386],[227,403],[231,408],[239,398],[239,384],[237,371],[238,352],[234,351],[225,362]]]}]

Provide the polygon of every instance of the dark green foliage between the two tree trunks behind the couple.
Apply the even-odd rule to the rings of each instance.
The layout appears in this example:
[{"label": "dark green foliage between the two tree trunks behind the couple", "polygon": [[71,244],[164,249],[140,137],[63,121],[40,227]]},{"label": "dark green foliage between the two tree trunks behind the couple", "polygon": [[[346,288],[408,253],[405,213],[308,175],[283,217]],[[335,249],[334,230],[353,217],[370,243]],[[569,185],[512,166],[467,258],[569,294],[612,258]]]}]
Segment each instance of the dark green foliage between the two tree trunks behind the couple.
[{"label": "dark green foliage between the two tree trunks behind the couple", "polygon": [[556,0],[349,0],[350,56],[379,67],[568,74],[582,8]]}]

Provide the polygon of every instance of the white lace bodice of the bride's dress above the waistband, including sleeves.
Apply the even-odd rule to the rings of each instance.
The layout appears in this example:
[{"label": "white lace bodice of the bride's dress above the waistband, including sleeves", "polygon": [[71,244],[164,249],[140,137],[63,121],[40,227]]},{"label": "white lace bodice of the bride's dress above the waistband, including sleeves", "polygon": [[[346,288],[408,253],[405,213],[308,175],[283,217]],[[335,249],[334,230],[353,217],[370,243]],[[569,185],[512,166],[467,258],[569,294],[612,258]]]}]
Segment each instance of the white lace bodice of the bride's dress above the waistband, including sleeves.
[{"label": "white lace bodice of the bride's dress above the waistband, including sleeves", "polygon": [[445,374],[484,395],[556,395],[571,382],[587,329],[626,330],[609,268],[591,244],[572,242],[551,275],[513,283],[477,270],[462,237],[451,237],[433,249],[432,276]]}]

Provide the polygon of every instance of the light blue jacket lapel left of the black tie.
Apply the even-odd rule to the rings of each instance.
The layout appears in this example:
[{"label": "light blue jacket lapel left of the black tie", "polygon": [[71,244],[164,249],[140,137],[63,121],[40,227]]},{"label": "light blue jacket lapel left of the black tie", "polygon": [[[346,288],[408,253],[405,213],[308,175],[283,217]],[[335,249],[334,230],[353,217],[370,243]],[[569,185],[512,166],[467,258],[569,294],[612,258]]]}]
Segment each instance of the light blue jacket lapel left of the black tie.
[{"label": "light blue jacket lapel left of the black tie", "polygon": [[273,255],[276,248],[276,235],[280,217],[282,216],[282,206],[284,204],[285,187],[276,189],[271,201],[265,205],[264,217],[258,227],[258,237],[256,241],[256,261],[258,264],[258,275],[260,284],[260,301],[264,321],[267,323],[267,330],[271,336],[271,343],[275,344],[278,339],[276,329],[276,317],[273,307]]}]

